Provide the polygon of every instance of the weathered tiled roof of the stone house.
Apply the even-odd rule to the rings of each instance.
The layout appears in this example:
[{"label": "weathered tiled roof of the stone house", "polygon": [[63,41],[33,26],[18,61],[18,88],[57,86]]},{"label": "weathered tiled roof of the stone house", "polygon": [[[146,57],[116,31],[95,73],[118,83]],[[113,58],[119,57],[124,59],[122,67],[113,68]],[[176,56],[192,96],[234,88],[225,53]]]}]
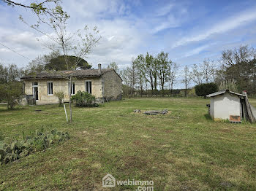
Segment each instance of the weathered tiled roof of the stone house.
[{"label": "weathered tiled roof of the stone house", "polygon": [[[114,69],[102,69],[101,72],[98,69],[86,69],[86,70],[75,70],[73,71],[73,77],[100,77],[109,71]],[[20,79],[50,79],[50,78],[67,78],[70,76],[72,71],[42,71],[37,74],[31,74]]]}]

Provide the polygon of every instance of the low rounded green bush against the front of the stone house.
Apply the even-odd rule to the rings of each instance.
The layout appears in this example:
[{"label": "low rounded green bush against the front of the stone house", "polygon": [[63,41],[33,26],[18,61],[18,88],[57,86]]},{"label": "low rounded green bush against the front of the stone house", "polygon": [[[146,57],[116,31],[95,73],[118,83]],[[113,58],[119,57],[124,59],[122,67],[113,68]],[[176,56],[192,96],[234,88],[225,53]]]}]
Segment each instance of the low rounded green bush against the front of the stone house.
[{"label": "low rounded green bush against the front of the stone house", "polygon": [[98,106],[95,103],[95,96],[91,95],[90,93],[78,91],[75,95],[72,95],[72,101],[75,102],[75,106],[83,106],[83,107],[90,107],[90,106]]}]

